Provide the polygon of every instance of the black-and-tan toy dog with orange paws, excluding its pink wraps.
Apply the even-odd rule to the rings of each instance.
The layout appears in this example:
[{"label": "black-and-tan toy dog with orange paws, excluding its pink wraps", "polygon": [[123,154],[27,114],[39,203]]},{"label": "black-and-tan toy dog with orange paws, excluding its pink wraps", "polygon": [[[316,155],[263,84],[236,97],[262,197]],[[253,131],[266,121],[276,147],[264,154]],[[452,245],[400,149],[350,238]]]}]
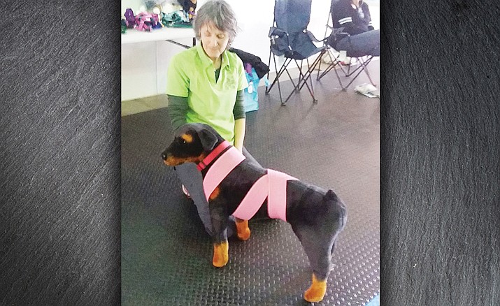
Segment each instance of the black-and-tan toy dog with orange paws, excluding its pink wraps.
[{"label": "black-and-tan toy dog with orange paws, excluding its pink wraps", "polygon": [[[177,166],[185,162],[203,165],[201,173],[204,179],[220,155],[215,158],[213,154],[210,158],[207,156],[224,141],[206,124],[185,124],[178,129],[175,139],[162,153],[162,159],[167,166]],[[213,160],[203,163],[204,159]],[[252,184],[269,171],[272,170],[264,169],[244,159],[208,196],[213,226],[213,265],[216,267],[226,265],[229,260],[229,245],[224,231],[229,216],[236,211]],[[286,195],[286,221],[290,223],[303,245],[313,270],[313,282],[304,293],[304,299],[308,302],[319,302],[327,290],[331,256],[338,234],[345,227],[347,211],[334,191],[299,180],[286,182]],[[266,199],[257,215],[267,214],[267,206]],[[250,237],[248,220],[236,218],[236,230],[239,239],[247,240]]]}]

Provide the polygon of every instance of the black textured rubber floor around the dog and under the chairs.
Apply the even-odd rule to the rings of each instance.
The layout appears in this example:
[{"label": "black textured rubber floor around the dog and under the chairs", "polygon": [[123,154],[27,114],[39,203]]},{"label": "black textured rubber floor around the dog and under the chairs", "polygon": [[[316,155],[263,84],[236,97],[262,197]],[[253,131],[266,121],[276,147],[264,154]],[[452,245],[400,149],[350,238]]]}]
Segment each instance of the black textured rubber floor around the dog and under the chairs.
[{"label": "black textured rubber floor around the dog and under the chairs", "polygon": [[[277,89],[259,88],[245,146],[343,198],[348,224],[317,305],[365,305],[379,292],[379,100],[341,92],[334,78],[315,85],[315,105],[306,89],[280,106]],[[160,159],[171,136],[165,108],[122,118],[122,305],[308,305],[309,263],[283,221],[250,221],[248,241],[229,241],[229,263],[211,265],[210,238]]]}]

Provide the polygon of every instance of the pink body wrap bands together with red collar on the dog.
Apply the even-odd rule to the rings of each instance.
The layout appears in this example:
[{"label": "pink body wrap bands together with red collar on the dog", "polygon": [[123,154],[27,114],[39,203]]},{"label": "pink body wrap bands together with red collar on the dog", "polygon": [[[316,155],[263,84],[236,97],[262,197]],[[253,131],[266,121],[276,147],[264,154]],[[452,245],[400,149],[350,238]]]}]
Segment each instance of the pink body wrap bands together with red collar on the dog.
[{"label": "pink body wrap bands together with red collar on the dog", "polygon": [[[229,147],[229,143],[224,141],[215,150],[213,154],[210,153],[203,159],[203,165],[200,163],[198,169],[202,170],[210,163],[215,157],[219,156],[220,152],[224,151],[225,148]],[[238,166],[245,156],[236,149],[236,147],[229,147],[219,158],[213,163],[213,165],[208,169],[204,179],[203,179],[203,189],[205,191],[205,196],[210,197],[210,194],[219,186],[220,182],[224,180],[224,177]],[[236,208],[233,216],[243,220],[249,220],[255,213],[259,210],[267,198],[267,212],[270,218],[282,219],[287,221],[287,181],[297,180],[295,177],[287,175],[285,173],[278,172],[276,170],[267,169],[267,174],[255,182],[255,184],[250,188],[248,194],[246,194],[243,201]]]}]

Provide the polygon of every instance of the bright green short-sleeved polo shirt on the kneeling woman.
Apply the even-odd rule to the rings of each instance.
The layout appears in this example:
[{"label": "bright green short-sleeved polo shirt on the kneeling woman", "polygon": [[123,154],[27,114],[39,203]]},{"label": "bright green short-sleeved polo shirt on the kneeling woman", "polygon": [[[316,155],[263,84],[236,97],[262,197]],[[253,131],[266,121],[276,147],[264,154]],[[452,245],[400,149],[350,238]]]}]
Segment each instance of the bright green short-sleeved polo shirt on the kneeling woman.
[{"label": "bright green short-sleeved polo shirt on the kneeling woman", "polygon": [[174,55],[169,64],[166,94],[187,97],[186,122],[209,124],[231,143],[234,142],[236,92],[246,87],[243,62],[233,52],[222,53],[217,82],[212,60],[203,52],[201,44]]}]

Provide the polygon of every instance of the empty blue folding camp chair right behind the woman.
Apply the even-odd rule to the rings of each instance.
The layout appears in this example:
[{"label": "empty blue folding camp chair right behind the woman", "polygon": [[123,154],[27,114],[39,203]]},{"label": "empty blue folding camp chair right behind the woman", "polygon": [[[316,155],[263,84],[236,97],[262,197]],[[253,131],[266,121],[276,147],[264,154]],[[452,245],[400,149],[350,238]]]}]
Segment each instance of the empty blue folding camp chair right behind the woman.
[{"label": "empty blue folding camp chair right behind the woman", "polygon": [[[310,31],[307,30],[310,20],[311,0],[275,0],[274,1],[274,21],[273,27],[269,30],[269,39],[271,41],[271,50],[269,51],[269,66],[271,65],[271,55],[273,56],[274,68],[276,69],[276,78],[269,87],[266,87],[266,94],[269,94],[273,86],[278,83],[278,91],[280,93],[280,101],[285,105],[294,92],[299,92],[306,85],[309,94],[313,97],[313,102],[317,99],[314,96],[313,81],[310,78],[317,64],[320,63],[322,54],[327,48],[322,45],[317,47],[313,41],[318,41]],[[309,58],[315,54],[319,56],[309,63]],[[283,56],[285,61],[278,69],[276,57]],[[303,71],[303,60],[306,60],[307,70]],[[299,80],[297,84],[292,80],[290,72],[287,70],[288,65],[294,61],[299,68]],[[299,64],[300,61],[300,64]],[[304,67],[305,68],[305,67]],[[292,81],[294,90],[283,101],[280,87],[280,76],[287,73],[288,78]],[[268,73],[269,78],[269,73]]]}]

